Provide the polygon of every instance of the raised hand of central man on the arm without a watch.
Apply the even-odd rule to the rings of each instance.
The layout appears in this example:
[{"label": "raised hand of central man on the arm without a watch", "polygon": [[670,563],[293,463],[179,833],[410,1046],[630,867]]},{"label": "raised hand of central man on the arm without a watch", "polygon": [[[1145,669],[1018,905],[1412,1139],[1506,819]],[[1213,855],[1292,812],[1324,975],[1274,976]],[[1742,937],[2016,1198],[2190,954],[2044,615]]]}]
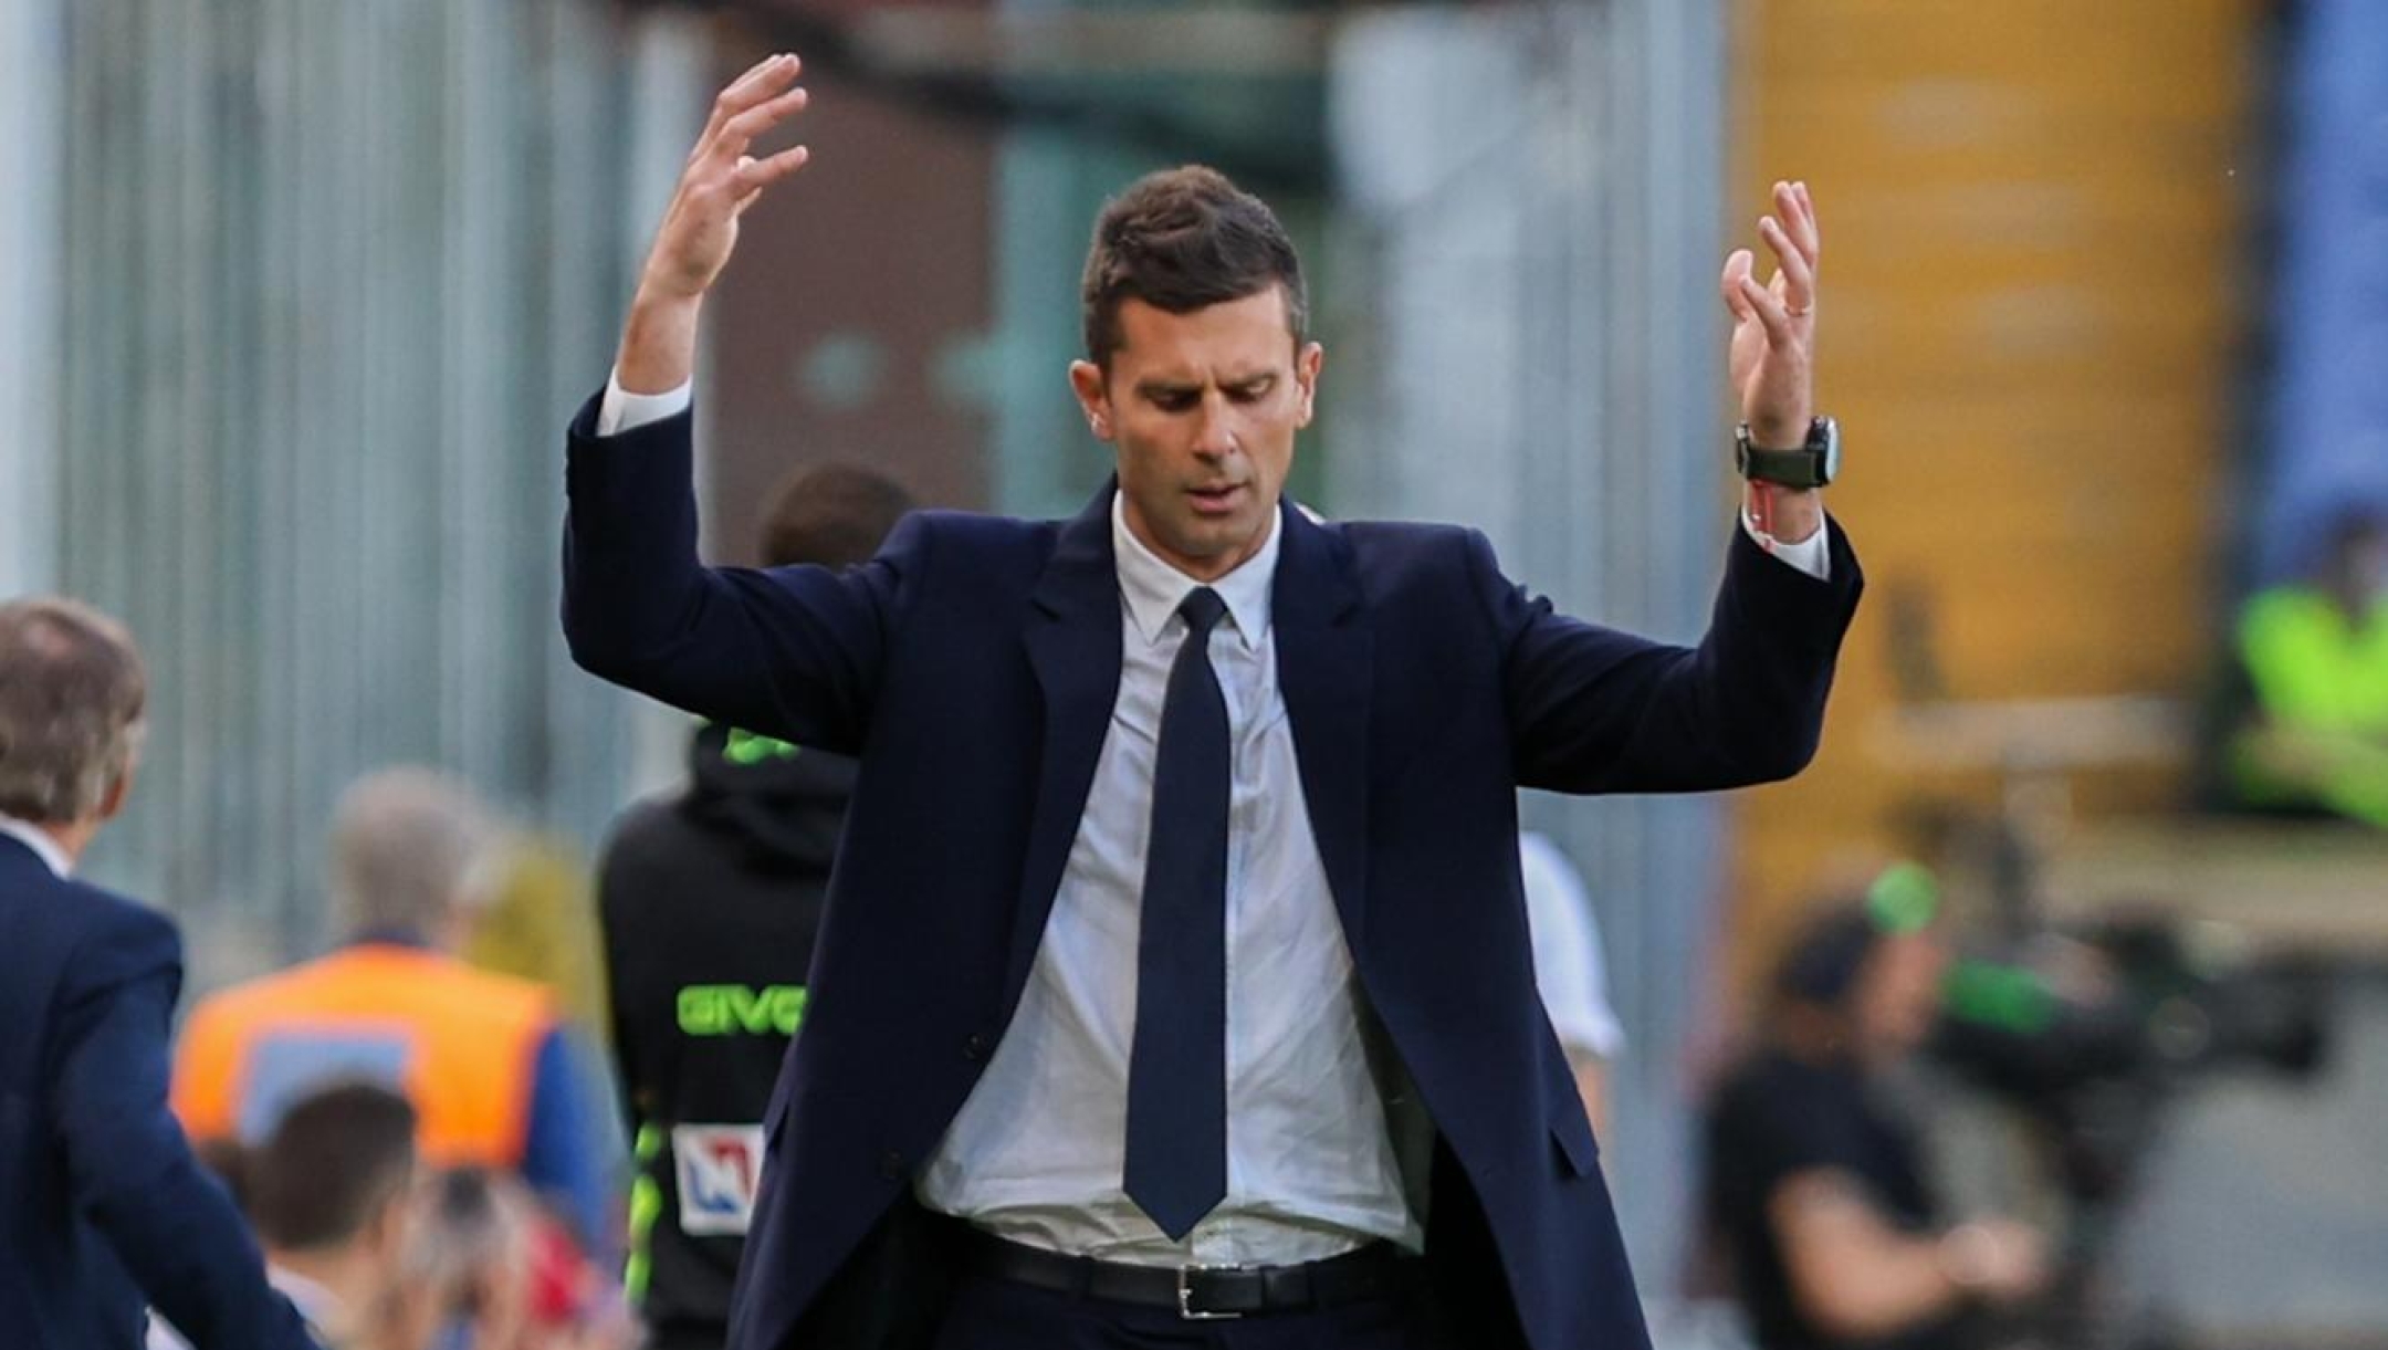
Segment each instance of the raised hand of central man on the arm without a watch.
[{"label": "raised hand of central man on the arm without a watch", "polygon": [[626,392],[661,394],[688,382],[697,363],[697,311],[738,246],[738,217],[764,189],[805,167],[805,146],[764,158],[747,153],[805,108],[798,69],[802,62],[793,55],[764,57],[714,98],[623,323],[614,378]]}]

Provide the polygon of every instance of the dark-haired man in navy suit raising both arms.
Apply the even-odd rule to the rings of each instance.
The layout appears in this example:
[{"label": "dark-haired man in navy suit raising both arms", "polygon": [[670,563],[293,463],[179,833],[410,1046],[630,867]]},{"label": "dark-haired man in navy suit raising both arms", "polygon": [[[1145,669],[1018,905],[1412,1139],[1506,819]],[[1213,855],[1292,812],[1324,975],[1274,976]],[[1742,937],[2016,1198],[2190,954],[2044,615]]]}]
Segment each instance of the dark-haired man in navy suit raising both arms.
[{"label": "dark-haired man in navy suit raising both arms", "polygon": [[1698,648],[1555,614],[1471,530],[1282,499],[1323,354],[1285,229],[1199,167],[1096,222],[1070,385],[1118,475],[1084,514],[704,569],[697,311],[805,162],[750,153],[795,72],[716,100],[568,461],[576,659],[860,757],[731,1345],[1645,1345],[1516,788],[1815,750],[1858,564],[1815,492],[1805,189],[1760,222],[1772,287],[1724,268],[1772,480]]}]

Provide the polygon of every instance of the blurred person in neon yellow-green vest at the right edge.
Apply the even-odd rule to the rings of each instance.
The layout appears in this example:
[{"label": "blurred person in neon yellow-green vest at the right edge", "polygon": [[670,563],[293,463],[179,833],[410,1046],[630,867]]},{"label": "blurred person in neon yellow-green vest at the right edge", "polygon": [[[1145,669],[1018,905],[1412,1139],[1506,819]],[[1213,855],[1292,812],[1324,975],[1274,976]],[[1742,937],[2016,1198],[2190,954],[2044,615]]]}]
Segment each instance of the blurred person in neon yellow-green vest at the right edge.
[{"label": "blurred person in neon yellow-green vest at the right edge", "polygon": [[2254,693],[2240,798],[2388,827],[2388,518],[2340,514],[2312,576],[2247,600],[2238,655]]}]

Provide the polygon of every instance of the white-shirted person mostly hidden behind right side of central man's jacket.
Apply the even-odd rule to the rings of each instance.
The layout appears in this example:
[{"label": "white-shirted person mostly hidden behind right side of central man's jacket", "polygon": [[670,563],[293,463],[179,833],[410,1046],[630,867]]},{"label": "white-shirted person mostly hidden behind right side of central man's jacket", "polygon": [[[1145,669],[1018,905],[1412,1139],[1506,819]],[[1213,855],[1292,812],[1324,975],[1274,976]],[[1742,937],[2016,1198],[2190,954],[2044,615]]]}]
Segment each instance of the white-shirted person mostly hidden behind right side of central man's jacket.
[{"label": "white-shirted person mostly hidden behind right side of central man's jacket", "polygon": [[1533,937],[1533,984],[1550,1013],[1550,1030],[1567,1051],[1576,1094],[1595,1133],[1610,1128],[1610,1061],[1626,1047],[1626,1030],[1610,1006],[1607,944],[1593,896],[1567,853],[1547,834],[1516,839],[1526,884],[1526,927]]}]

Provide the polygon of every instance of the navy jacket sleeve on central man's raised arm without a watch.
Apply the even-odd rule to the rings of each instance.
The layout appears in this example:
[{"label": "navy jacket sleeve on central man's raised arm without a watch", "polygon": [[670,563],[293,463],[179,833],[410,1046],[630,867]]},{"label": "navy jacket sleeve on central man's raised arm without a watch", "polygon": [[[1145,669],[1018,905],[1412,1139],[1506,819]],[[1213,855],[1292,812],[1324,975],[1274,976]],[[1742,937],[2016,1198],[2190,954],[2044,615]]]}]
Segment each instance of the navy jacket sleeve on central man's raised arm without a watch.
[{"label": "navy jacket sleeve on central man's raised arm without a watch", "polygon": [[714,722],[843,755],[862,748],[886,633],[927,559],[907,516],[862,566],[697,562],[690,413],[595,435],[566,461],[564,638],[607,681]]}]

